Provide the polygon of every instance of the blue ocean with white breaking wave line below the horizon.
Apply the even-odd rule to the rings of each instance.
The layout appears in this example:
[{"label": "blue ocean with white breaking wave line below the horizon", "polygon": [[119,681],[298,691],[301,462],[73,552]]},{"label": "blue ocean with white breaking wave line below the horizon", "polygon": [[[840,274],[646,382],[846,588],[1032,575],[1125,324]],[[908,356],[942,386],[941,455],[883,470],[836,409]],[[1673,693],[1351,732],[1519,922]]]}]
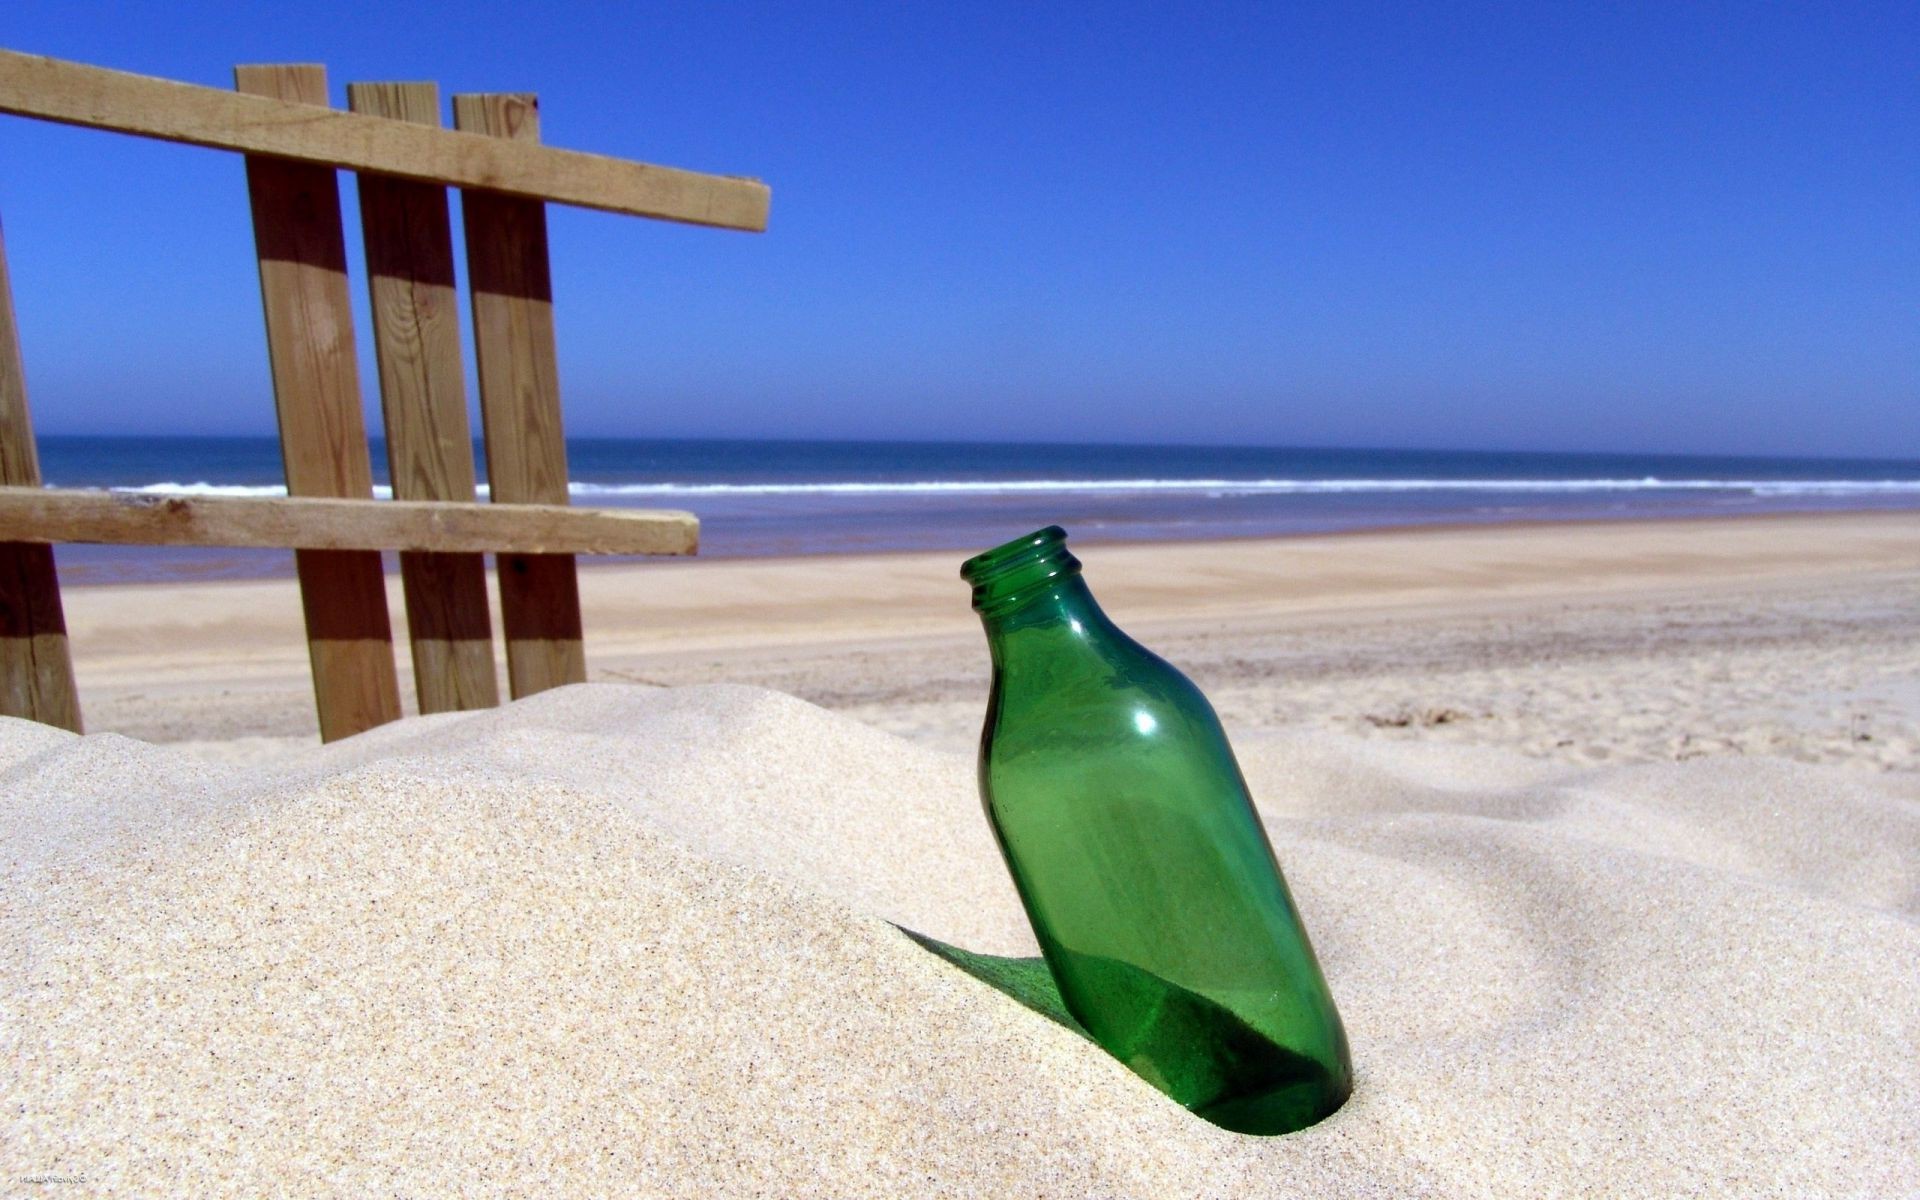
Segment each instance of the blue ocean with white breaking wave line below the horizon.
[{"label": "blue ocean with white breaking wave line below the horizon", "polygon": [[[374,442],[386,495],[386,447]],[[476,461],[484,467],[484,457]],[[568,442],[576,505],[687,509],[703,557],[996,545],[1044,524],[1077,541],[1200,540],[1413,524],[1920,509],[1914,459],[987,445]],[[273,438],[40,438],[58,488],[280,495]],[[484,470],[482,470],[484,478]],[[61,545],[63,582],[292,574],[292,553]]]}]

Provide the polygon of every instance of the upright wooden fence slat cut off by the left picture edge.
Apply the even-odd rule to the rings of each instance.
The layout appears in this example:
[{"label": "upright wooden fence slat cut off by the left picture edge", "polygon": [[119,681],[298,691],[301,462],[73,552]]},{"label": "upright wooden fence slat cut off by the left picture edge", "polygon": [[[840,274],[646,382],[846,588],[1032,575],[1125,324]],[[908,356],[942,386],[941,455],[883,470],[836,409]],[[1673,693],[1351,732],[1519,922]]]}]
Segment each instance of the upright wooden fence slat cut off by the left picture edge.
[{"label": "upright wooden fence slat cut off by the left picture edge", "polygon": [[[27,413],[27,369],[13,324],[13,284],[0,236],[0,486],[35,488],[40,449]],[[0,536],[0,716],[81,732],[67,618],[60,609],[54,547]]]}]

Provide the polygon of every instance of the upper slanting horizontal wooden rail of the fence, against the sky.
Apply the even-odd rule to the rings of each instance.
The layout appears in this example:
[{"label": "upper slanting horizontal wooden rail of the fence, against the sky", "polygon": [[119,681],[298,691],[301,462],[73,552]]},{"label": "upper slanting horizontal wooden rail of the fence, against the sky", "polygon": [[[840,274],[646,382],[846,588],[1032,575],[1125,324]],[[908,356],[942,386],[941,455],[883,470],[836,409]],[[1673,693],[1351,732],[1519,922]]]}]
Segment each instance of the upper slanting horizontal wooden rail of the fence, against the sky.
[{"label": "upper slanting horizontal wooden rail of the fence, against the sky", "polygon": [[[244,88],[252,92],[252,88]],[[493,140],[409,121],[317,113],[292,96],[236,96],[150,75],[0,50],[0,111],[169,142],[492,188],[553,204],[718,228],[764,230],[755,179]]]}]

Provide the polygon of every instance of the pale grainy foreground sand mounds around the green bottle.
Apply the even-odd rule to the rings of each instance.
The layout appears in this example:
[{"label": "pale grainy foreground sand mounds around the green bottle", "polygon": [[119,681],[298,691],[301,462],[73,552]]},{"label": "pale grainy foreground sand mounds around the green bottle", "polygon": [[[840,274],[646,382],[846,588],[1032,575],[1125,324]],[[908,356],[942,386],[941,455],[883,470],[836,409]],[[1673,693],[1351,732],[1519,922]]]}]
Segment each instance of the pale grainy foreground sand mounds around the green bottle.
[{"label": "pale grainy foreground sand mounds around the green bottle", "polygon": [[780,693],[0,720],[0,1192],[1914,1194],[1910,772],[1240,753],[1359,1071],[1286,1139],[897,933],[1031,950],[972,762]]}]

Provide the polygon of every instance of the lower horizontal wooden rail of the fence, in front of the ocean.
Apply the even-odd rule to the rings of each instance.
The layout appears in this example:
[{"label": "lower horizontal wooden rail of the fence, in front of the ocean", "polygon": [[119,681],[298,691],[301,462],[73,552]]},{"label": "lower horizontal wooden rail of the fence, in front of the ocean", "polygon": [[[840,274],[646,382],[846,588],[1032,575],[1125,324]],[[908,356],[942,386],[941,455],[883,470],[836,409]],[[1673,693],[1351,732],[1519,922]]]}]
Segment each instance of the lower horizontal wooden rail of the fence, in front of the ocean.
[{"label": "lower horizontal wooden rail of the fence, in front of the ocean", "polygon": [[0,488],[0,538],[106,545],[430,551],[436,557],[691,555],[699,520],[668,509],[457,501],[148,495]]}]

